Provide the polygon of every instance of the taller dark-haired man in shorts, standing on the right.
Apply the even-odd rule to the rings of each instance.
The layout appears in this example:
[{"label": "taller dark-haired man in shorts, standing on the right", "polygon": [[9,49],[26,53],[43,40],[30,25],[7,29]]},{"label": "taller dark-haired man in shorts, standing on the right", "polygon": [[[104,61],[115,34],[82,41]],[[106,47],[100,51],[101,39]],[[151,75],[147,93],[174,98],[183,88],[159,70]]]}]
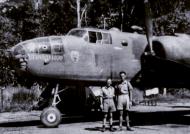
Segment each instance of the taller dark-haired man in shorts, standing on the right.
[{"label": "taller dark-haired man in shorts, standing on the right", "polygon": [[126,72],[120,72],[121,83],[118,85],[117,109],[119,110],[119,129],[122,130],[123,114],[125,115],[126,129],[133,131],[129,125],[129,110],[132,105],[132,85],[127,81]]}]

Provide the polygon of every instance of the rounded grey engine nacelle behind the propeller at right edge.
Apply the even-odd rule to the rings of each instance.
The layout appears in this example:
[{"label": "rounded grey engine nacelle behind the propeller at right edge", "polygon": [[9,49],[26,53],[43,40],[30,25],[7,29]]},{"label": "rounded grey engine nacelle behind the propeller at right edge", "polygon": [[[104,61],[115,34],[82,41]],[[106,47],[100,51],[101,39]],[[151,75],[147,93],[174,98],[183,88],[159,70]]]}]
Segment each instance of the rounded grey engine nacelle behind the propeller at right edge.
[{"label": "rounded grey engine nacelle behind the propeller at right edge", "polygon": [[190,36],[160,36],[153,41],[156,56],[166,60],[190,65]]}]

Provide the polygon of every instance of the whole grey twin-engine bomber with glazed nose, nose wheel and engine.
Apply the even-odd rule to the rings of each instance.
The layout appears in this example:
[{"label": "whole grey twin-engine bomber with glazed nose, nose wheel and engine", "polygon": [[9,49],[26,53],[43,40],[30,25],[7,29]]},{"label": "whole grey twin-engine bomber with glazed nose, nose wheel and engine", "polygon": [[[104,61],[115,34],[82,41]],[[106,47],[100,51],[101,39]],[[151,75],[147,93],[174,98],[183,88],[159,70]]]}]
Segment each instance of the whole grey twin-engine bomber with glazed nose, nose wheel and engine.
[{"label": "whole grey twin-engine bomber with glazed nose, nose wheel and engine", "polygon": [[[101,85],[108,77],[119,81],[127,72],[134,86],[189,87],[190,36],[153,37],[150,51],[145,35],[94,28],[74,28],[65,36],[39,37],[11,48],[17,71],[57,83],[53,101],[41,115],[48,127],[57,126],[61,114],[58,84]],[[49,91],[51,92],[51,91]],[[50,99],[50,98],[49,98]]]}]

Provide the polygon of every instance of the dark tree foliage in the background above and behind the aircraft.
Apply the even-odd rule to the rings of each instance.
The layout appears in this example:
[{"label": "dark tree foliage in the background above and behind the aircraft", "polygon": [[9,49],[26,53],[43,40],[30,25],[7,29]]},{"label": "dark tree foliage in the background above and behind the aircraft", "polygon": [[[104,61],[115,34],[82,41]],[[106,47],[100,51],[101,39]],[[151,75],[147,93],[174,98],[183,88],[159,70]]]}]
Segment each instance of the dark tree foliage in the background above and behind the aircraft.
[{"label": "dark tree foliage in the background above and behind the aircraft", "polygon": [[[82,27],[144,27],[144,0],[80,0]],[[189,0],[149,0],[157,35],[190,32]],[[46,35],[63,35],[77,26],[76,0],[8,0],[0,4],[0,49]],[[105,24],[105,26],[104,26]],[[0,84],[14,81],[9,61],[0,53]],[[12,78],[12,79],[9,79]],[[7,81],[7,82],[6,82]]]}]

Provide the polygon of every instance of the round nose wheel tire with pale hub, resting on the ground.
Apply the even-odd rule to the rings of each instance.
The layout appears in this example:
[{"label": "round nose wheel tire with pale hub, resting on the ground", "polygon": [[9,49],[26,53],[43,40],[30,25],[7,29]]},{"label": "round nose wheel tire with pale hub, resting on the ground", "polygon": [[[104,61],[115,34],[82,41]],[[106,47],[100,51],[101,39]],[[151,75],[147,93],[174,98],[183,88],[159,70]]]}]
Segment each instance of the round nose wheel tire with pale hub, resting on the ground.
[{"label": "round nose wheel tire with pale hub, resting on the ground", "polygon": [[58,127],[61,122],[61,113],[56,107],[48,107],[42,111],[40,120],[46,127]]}]

